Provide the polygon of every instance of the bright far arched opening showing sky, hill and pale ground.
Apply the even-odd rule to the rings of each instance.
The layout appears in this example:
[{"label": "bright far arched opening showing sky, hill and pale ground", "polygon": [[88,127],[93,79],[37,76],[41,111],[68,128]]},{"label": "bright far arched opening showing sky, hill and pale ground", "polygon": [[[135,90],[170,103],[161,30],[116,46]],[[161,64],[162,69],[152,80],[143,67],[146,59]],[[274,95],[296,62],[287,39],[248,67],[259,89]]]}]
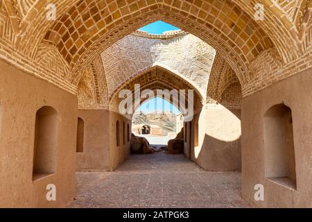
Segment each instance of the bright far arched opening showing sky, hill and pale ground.
[{"label": "bright far arched opening showing sky, hill and pale ground", "polygon": [[180,110],[161,97],[142,103],[132,117],[132,133],[145,137],[151,145],[168,144],[168,140],[180,133],[182,126]]}]

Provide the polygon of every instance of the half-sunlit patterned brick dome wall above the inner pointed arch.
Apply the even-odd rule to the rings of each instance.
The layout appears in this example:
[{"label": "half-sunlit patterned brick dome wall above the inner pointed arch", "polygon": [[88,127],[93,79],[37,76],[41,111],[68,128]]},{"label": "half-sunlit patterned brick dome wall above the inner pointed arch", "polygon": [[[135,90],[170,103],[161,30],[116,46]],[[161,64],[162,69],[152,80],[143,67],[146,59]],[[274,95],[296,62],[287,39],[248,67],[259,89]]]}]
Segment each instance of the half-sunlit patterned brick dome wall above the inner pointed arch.
[{"label": "half-sunlit patterned brick dome wall above the inner pointed arch", "polygon": [[166,40],[128,35],[102,53],[111,96],[123,83],[150,67],[164,67],[189,80],[206,94],[216,51],[194,35],[180,33]]}]

